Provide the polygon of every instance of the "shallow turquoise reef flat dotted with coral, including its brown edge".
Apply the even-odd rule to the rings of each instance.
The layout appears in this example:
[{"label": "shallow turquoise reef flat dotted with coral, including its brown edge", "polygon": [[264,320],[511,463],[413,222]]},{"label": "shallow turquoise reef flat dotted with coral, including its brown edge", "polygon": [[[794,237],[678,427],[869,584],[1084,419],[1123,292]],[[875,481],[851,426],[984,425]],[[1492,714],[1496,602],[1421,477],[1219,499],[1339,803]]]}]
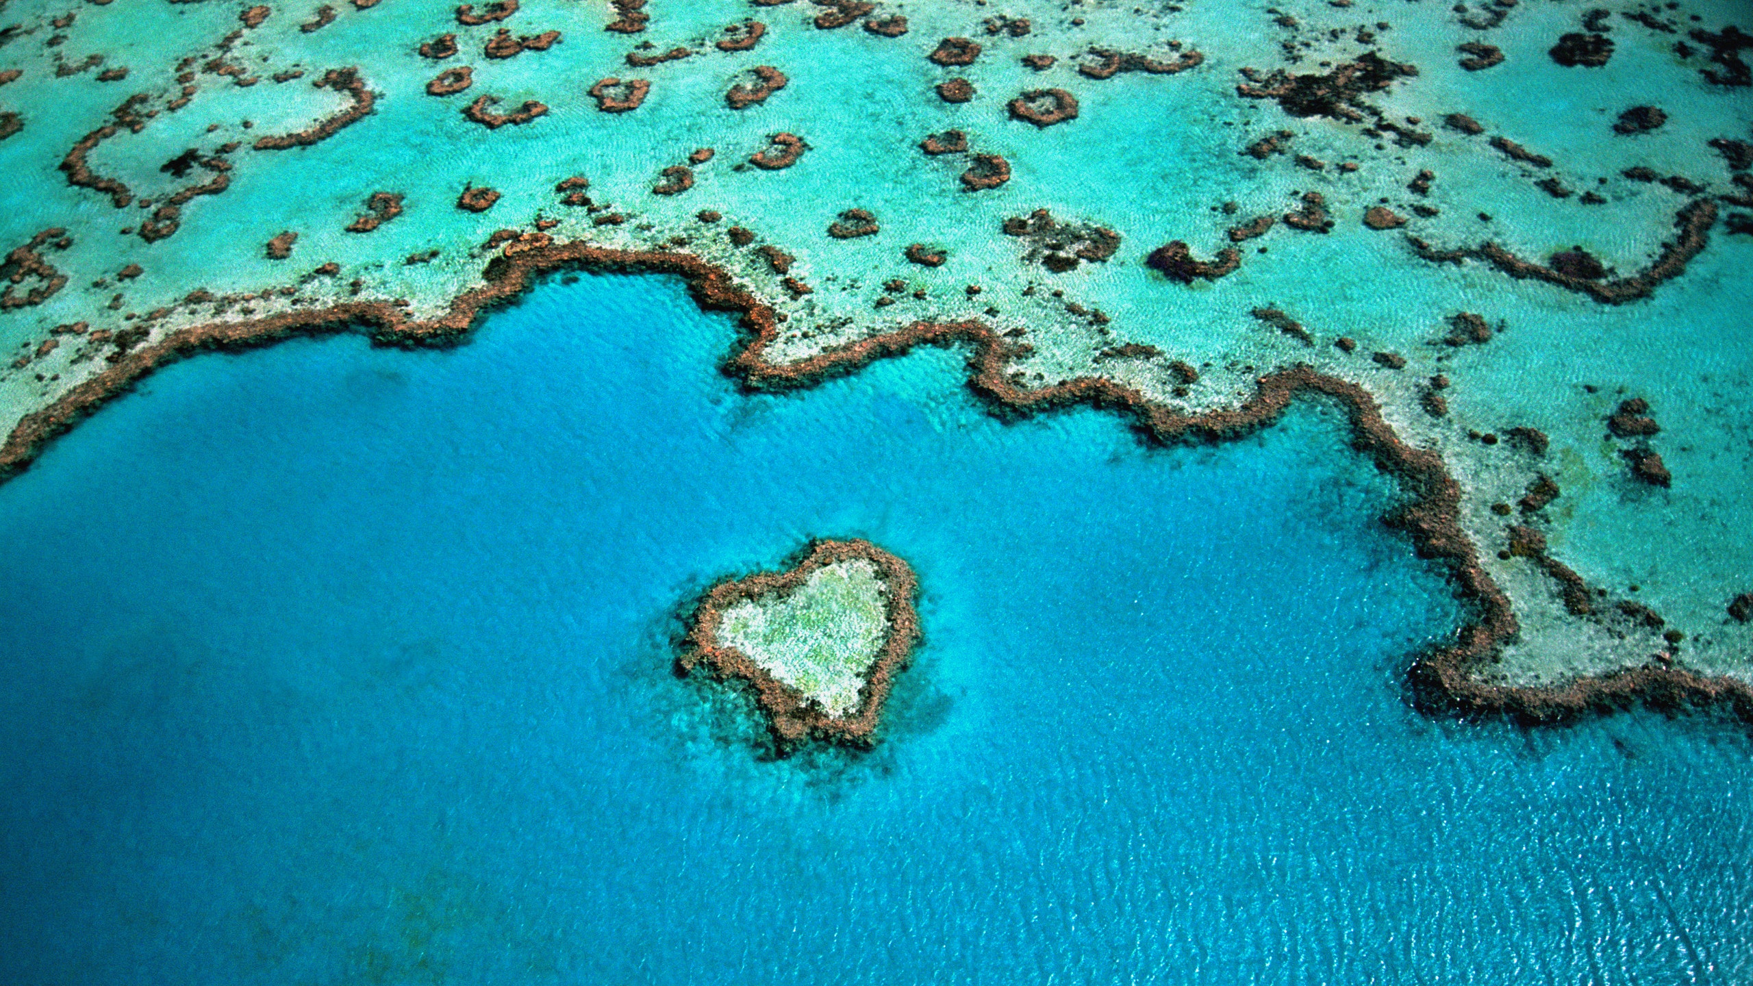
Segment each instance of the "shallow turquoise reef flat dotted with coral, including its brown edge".
[{"label": "shallow turquoise reef flat dotted with coral, including its brown edge", "polygon": [[1753,716],[1746,30],[1727,2],[14,2],[0,467],[193,353],[451,344],[547,270],[671,272],[742,314],[756,389],[929,344],[999,414],[1155,442],[1336,402],[1474,612],[1420,702]]}]

